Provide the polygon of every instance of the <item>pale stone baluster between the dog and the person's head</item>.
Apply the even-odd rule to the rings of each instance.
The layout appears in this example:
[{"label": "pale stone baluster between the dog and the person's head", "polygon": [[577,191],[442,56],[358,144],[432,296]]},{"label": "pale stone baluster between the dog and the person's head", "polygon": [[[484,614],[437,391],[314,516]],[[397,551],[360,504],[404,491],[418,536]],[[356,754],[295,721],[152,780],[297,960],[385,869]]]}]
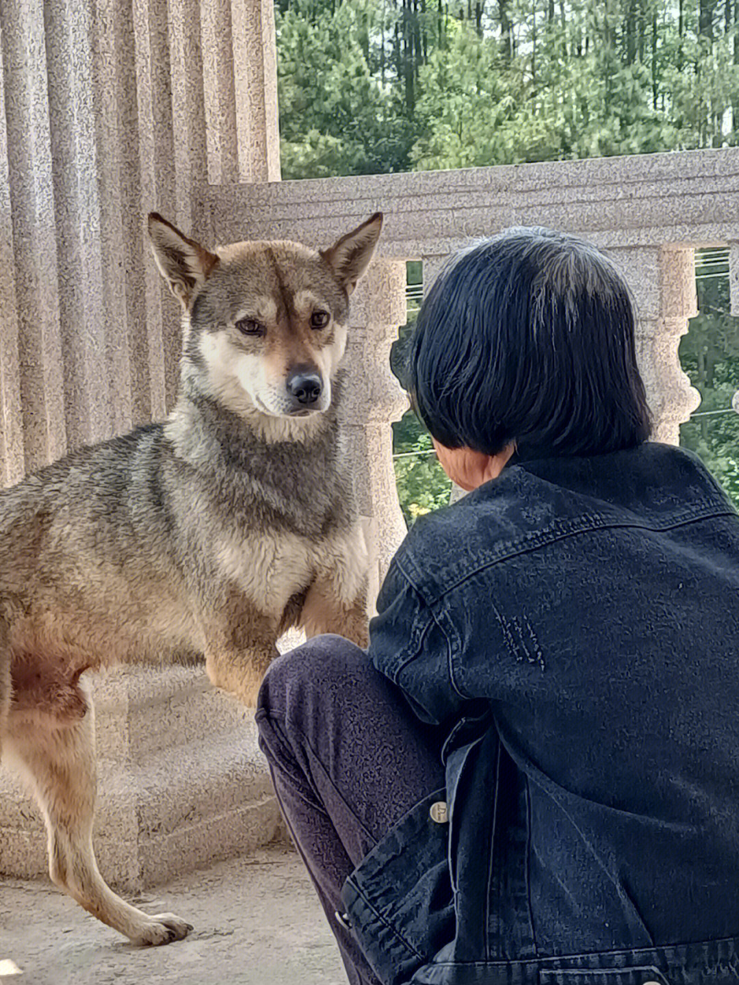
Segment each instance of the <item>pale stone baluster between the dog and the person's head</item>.
[{"label": "pale stone baluster between the dog and the person's head", "polygon": [[407,397],[391,372],[390,349],[405,321],[405,263],[376,260],[351,297],[343,423],[359,511],[370,536],[370,603],[405,536],[393,468],[392,421]]}]

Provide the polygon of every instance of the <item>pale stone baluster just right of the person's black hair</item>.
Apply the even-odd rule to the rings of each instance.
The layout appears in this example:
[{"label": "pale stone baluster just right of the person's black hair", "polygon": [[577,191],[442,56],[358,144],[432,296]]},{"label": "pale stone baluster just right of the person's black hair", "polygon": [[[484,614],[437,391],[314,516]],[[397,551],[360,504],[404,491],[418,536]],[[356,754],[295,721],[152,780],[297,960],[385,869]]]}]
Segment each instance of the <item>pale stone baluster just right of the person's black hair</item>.
[{"label": "pale stone baluster just right of the person's black hair", "polygon": [[680,337],[698,314],[692,247],[638,246],[612,249],[637,302],[637,356],[652,414],[652,438],[678,444],[680,425],[701,396],[680,365]]}]

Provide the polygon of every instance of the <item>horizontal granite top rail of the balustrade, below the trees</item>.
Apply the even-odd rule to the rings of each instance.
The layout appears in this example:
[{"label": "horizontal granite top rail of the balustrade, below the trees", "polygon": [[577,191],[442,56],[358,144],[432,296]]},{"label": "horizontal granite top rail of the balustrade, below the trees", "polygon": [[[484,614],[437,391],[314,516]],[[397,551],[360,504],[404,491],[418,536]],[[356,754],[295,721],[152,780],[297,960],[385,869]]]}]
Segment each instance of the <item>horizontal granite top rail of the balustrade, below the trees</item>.
[{"label": "horizontal granite top rail of the balustrade, below the trees", "polygon": [[454,252],[511,226],[578,232],[601,248],[739,236],[739,148],[371,174],[208,189],[211,236],[325,245],[385,214],[378,256]]}]

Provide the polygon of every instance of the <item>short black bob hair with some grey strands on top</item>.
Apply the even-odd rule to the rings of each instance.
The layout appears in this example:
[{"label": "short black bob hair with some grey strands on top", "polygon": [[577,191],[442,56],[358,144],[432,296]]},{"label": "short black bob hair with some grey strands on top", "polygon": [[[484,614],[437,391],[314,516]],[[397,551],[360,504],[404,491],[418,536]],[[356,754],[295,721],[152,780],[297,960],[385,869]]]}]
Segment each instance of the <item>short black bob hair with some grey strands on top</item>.
[{"label": "short black bob hair with some grey strands on top", "polygon": [[635,310],[621,274],[573,236],[508,230],[462,250],[421,305],[405,386],[448,448],[598,455],[649,436]]}]

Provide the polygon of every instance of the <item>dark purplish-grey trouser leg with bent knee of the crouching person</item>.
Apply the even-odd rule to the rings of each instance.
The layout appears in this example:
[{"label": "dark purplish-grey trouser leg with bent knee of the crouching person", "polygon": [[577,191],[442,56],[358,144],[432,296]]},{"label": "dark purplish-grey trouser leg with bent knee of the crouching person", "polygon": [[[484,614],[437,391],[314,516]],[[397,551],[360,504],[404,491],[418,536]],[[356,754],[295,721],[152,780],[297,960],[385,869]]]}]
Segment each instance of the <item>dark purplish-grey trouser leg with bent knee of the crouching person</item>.
[{"label": "dark purplish-grey trouser leg with bent knee of the crouching person", "polygon": [[337,919],[344,880],[418,801],[445,784],[435,730],[367,654],[318,636],[278,658],[257,708],[260,746],[351,985],[378,979]]}]

